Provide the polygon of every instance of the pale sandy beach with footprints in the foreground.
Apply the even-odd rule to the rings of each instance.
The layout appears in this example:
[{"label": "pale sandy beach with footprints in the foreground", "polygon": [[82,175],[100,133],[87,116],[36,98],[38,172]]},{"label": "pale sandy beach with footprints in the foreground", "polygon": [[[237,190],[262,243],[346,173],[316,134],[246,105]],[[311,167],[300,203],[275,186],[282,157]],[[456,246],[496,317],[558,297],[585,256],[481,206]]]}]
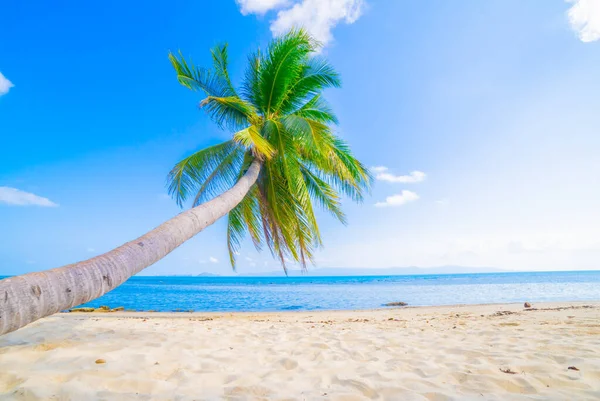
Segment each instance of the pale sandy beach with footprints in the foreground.
[{"label": "pale sandy beach with footprints in the foreground", "polygon": [[600,302],[534,307],[572,305],[58,314],[0,337],[0,400],[599,400]]}]

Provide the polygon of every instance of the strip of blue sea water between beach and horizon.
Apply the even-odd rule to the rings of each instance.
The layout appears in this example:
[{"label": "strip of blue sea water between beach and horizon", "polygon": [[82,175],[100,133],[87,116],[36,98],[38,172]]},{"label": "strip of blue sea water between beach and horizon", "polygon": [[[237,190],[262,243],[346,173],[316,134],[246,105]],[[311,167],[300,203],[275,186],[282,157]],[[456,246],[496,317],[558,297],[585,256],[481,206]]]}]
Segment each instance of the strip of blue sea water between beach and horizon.
[{"label": "strip of blue sea water between beach and horizon", "polygon": [[132,277],[84,306],[156,311],[379,308],[600,300],[600,271],[356,277]]}]

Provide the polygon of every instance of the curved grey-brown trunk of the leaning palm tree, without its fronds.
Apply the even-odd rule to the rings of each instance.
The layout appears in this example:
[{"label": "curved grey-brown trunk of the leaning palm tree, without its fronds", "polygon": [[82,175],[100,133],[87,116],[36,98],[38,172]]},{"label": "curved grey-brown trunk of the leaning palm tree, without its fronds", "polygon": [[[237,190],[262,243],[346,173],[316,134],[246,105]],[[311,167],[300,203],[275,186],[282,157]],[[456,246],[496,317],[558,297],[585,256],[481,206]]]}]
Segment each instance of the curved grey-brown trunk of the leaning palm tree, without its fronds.
[{"label": "curved grey-brown trunk of the leaning palm tree, without its fronds", "polygon": [[96,299],[153,265],[227,214],[256,182],[254,161],[228,191],[187,210],[144,236],[83,262],[0,280],[0,335]]}]

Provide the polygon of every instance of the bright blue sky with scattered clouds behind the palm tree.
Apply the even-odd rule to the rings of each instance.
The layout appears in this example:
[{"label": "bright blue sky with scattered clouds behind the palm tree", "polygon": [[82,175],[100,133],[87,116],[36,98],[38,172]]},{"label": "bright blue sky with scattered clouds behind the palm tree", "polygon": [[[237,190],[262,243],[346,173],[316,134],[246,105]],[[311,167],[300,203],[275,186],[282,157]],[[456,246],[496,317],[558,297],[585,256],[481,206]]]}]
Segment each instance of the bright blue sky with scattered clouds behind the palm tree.
[{"label": "bright blue sky with scattered clouds behind the palm tree", "polygon": [[[23,2],[0,25],[0,274],[58,267],[178,213],[173,164],[227,138],[167,59],[246,54],[302,25],[379,176],[321,267],[599,269],[600,2]],[[223,222],[146,274],[230,273]],[[240,272],[278,269],[247,244]]]}]

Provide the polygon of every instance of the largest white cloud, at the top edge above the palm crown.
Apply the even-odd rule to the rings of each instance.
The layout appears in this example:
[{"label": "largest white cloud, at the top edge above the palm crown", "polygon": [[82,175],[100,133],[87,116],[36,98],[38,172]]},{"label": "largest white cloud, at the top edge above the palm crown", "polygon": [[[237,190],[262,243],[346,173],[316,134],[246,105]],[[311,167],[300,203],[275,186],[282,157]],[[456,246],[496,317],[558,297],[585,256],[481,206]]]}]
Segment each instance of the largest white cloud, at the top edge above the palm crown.
[{"label": "largest white cloud, at the top edge above the palm crown", "polygon": [[[292,28],[304,28],[315,39],[328,44],[331,30],[340,22],[353,24],[362,15],[365,0],[236,0],[242,14],[262,15],[270,10],[280,11],[271,22],[274,36]],[[291,7],[290,7],[291,6]]]}]

